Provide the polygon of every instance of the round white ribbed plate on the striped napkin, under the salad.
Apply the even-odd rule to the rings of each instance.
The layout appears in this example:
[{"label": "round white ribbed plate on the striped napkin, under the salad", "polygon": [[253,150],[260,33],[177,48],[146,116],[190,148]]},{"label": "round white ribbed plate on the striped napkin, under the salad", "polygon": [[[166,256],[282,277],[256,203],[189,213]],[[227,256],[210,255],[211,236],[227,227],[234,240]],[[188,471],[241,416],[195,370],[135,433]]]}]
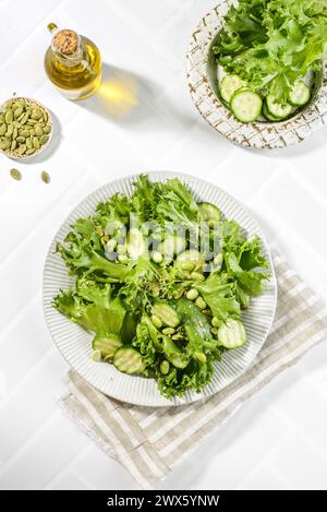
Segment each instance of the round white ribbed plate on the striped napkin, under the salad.
[{"label": "round white ribbed plate on the striped napkin, under the salad", "polygon": [[264,251],[270,263],[271,279],[261,297],[252,300],[251,307],[243,319],[247,332],[245,346],[226,353],[221,362],[216,364],[213,381],[202,393],[187,393],[183,398],[168,401],[160,395],[154,379],[131,377],[119,372],[112,365],[94,362],[92,354],[92,335],[78,325],[70,322],[51,306],[52,298],[60,288],[66,289],[73,284],[66,267],[59,254],[55,254],[56,243],[63,240],[70,225],[78,217],[92,215],[96,205],[108,200],[113,193],[132,192],[132,183],[136,176],[123,178],[105,184],[84,201],[82,201],[68,216],[49,249],[44,271],[44,309],[48,328],[53,342],[62,356],[84,379],[105,394],[132,404],[144,406],[180,405],[208,397],[240,377],[254,361],[270,330],[276,308],[277,286],[271,258],[265,237],[254,218],[231,195],[207,181],[178,172],[152,172],[150,179],[164,181],[178,177],[185,182],[197,201],[208,201],[217,204],[228,218],[235,219],[247,233],[249,237],[258,235],[264,243]]}]

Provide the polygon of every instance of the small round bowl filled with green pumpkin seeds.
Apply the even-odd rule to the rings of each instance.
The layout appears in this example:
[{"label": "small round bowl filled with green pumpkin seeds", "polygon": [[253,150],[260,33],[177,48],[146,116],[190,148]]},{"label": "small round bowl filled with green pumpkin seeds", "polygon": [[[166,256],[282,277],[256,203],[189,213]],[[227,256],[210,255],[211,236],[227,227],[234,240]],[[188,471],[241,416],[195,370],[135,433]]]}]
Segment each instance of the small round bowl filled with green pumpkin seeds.
[{"label": "small round bowl filled with green pumpkin seeds", "polygon": [[52,136],[52,119],[40,103],[13,97],[0,107],[0,151],[10,158],[31,158],[41,153]]}]

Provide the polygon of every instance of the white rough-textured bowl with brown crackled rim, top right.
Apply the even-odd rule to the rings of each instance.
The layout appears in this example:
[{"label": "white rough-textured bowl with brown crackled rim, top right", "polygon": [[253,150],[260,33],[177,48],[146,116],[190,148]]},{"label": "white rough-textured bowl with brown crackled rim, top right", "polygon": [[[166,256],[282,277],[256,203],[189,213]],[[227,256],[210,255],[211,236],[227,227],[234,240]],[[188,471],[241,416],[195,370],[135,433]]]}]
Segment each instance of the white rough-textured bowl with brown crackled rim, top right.
[{"label": "white rough-textured bowl with brown crackled rim, top right", "polygon": [[327,61],[316,78],[311,103],[281,122],[239,122],[217,96],[217,67],[211,46],[222,28],[223,16],[234,0],[217,0],[217,5],[199,22],[187,51],[187,83],[193,103],[202,117],[234,144],[274,150],[302,142],[327,121]]}]

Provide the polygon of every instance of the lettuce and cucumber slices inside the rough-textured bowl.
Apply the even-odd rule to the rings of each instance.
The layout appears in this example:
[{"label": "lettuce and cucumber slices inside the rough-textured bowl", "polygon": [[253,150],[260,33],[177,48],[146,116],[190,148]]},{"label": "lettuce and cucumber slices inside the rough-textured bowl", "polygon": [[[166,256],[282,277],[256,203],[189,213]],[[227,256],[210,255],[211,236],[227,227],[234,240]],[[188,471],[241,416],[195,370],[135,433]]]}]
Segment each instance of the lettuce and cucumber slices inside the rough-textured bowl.
[{"label": "lettuce and cucumber slices inside the rough-textured bowl", "polygon": [[281,121],[312,97],[327,56],[327,1],[239,0],[213,51],[220,96],[237,119]]}]

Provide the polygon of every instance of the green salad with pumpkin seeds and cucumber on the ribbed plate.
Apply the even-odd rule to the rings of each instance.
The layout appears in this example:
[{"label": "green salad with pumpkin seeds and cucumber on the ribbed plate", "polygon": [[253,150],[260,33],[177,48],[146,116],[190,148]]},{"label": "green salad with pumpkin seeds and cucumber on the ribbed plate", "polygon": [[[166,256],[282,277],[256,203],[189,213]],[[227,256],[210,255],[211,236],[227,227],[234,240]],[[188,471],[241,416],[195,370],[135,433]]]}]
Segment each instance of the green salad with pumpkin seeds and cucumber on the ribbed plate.
[{"label": "green salad with pumpkin seeds and cucumber on the ribbed plate", "polygon": [[177,178],[140,176],[57,251],[75,284],[53,306],[93,333],[93,359],[156,379],[168,398],[199,392],[214,362],[246,343],[241,312],[269,278],[261,240]]}]

